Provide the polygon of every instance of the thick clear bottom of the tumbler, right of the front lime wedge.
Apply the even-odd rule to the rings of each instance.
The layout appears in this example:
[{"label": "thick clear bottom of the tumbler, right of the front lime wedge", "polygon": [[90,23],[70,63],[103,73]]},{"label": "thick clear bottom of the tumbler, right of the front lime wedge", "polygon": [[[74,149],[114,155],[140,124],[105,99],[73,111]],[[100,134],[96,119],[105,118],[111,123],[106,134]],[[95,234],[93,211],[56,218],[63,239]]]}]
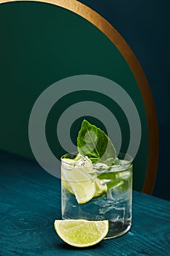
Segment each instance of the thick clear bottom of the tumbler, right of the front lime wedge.
[{"label": "thick clear bottom of the tumbler, right of the front lime wedge", "polygon": [[131,228],[131,222],[127,225],[124,225],[121,230],[117,230],[114,227],[115,225],[112,225],[111,222],[109,222],[109,233],[104,239],[110,239],[110,238],[116,238],[118,236],[122,236],[123,234],[127,233],[128,230]]}]

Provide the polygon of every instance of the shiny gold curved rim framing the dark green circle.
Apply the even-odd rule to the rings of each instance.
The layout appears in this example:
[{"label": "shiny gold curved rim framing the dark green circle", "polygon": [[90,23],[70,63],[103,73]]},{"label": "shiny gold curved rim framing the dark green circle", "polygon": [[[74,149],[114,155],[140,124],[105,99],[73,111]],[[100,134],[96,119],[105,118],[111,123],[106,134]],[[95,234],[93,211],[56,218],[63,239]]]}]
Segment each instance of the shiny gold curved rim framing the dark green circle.
[{"label": "shiny gold curved rim framing the dark green circle", "polygon": [[[0,4],[7,2],[11,1],[0,0]],[[63,7],[67,10],[77,13],[86,20],[90,21],[90,23],[93,23],[94,26],[100,29],[112,41],[112,43],[123,55],[125,61],[127,61],[128,66],[131,68],[131,71],[134,74],[134,78],[136,79],[136,83],[138,84],[139,90],[142,94],[144,108],[147,115],[147,125],[149,130],[149,157],[147,161],[147,173],[145,176],[142,192],[152,194],[158,168],[158,122],[150,86],[147,82],[146,76],[144,75],[142,67],[139,64],[139,61],[136,59],[133,51],[128,46],[127,42],[125,42],[123,37],[117,32],[117,30],[109,22],[107,22],[107,20],[102,18],[101,15],[99,15],[97,12],[94,12],[89,7],[75,0],[41,0],[41,2]]]}]

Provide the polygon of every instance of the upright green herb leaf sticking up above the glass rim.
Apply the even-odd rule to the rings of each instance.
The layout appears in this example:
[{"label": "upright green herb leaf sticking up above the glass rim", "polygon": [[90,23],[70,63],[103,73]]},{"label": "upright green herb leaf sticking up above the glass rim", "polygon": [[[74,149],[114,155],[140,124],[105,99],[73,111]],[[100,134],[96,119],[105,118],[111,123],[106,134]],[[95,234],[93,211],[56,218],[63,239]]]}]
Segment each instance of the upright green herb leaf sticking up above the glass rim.
[{"label": "upright green herb leaf sticking up above the glass rim", "polygon": [[77,137],[77,150],[82,156],[88,156],[95,162],[104,162],[116,159],[115,147],[112,145],[108,136],[87,120],[82,121],[82,127]]}]

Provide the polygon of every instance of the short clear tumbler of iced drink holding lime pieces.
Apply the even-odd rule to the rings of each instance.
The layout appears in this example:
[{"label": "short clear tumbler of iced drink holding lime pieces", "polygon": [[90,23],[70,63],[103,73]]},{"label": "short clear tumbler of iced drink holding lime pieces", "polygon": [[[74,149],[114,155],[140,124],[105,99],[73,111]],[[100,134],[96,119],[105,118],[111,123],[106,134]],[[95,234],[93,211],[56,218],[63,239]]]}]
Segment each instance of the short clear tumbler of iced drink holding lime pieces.
[{"label": "short clear tumbler of iced drink holding lime pieces", "polygon": [[132,157],[120,153],[112,166],[74,157],[61,158],[62,218],[108,219],[106,238],[127,232],[131,227]]}]

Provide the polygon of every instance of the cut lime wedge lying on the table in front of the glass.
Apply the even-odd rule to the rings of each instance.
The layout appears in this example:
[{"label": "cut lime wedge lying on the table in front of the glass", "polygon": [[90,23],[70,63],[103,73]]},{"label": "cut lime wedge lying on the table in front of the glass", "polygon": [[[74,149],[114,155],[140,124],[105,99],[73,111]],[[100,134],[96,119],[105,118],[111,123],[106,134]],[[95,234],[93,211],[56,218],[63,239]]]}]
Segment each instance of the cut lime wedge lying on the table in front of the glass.
[{"label": "cut lime wedge lying on the table in front of the glass", "polygon": [[67,244],[87,247],[98,244],[109,230],[108,220],[88,221],[85,219],[55,220],[58,236]]}]

